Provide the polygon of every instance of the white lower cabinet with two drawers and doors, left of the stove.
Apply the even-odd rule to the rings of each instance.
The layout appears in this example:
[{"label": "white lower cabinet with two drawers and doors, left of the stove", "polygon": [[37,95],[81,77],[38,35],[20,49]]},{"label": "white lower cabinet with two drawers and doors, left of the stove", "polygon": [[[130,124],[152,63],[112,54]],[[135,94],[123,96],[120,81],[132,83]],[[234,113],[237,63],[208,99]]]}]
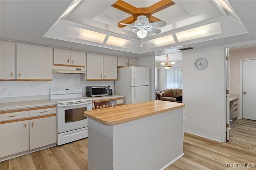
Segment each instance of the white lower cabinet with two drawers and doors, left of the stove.
[{"label": "white lower cabinet with two drawers and doors, left of the stove", "polygon": [[0,118],[1,159],[57,141],[56,105],[1,111]]}]

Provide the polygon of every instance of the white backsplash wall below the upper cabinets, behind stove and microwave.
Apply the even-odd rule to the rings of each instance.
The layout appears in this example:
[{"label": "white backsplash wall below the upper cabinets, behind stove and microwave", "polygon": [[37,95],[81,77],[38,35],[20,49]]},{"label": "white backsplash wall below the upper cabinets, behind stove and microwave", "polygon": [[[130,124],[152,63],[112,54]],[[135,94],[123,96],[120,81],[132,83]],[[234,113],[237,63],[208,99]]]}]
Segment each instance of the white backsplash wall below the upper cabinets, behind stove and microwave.
[{"label": "white backsplash wall below the upper cabinets, behind stove and microwave", "polygon": [[[20,97],[50,95],[50,87],[83,87],[94,85],[113,85],[114,81],[80,81],[80,74],[53,73],[52,81],[1,81],[2,97]],[[7,90],[12,90],[13,95],[8,96]],[[114,93],[114,91],[113,91]]]}]

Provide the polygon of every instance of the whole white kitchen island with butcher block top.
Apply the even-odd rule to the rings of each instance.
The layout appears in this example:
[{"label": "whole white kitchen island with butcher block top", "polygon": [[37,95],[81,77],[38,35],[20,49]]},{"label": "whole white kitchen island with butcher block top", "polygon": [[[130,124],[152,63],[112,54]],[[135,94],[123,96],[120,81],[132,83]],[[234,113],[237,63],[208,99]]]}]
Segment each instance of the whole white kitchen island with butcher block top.
[{"label": "whole white kitchen island with butcher block top", "polygon": [[90,170],[164,169],[183,155],[183,103],[148,101],[88,117]]}]

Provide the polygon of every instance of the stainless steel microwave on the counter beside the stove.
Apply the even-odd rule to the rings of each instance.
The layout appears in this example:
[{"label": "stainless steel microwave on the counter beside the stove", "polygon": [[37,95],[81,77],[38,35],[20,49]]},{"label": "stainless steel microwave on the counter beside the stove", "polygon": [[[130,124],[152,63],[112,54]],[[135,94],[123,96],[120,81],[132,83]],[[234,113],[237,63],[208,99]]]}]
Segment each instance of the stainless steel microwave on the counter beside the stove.
[{"label": "stainless steel microwave on the counter beside the stove", "polygon": [[86,86],[86,96],[88,97],[98,97],[107,95],[108,86]]}]

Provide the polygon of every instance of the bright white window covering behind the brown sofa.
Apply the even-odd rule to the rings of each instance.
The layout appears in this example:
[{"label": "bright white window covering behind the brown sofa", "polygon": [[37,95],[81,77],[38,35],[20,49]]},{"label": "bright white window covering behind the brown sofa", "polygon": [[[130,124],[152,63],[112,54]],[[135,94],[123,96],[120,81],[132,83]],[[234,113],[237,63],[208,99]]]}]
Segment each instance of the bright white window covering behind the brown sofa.
[{"label": "bright white window covering behind the brown sofa", "polygon": [[166,73],[167,89],[182,89],[182,67],[170,68]]}]

